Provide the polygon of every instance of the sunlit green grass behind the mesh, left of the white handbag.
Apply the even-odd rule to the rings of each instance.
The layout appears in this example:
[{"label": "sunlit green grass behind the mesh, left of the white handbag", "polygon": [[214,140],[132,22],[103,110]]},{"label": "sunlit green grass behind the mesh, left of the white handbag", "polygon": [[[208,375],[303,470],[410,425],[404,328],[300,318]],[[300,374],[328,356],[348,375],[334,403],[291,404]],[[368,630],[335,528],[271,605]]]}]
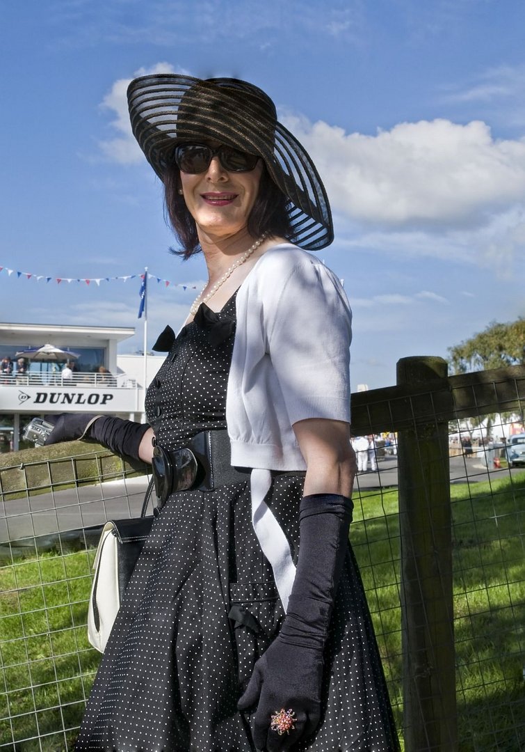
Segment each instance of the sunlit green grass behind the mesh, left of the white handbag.
[{"label": "sunlit green grass behind the mesh, left of the white handbag", "polygon": [[0,748],[73,748],[100,660],[86,637],[92,559],[47,553],[0,569]]}]

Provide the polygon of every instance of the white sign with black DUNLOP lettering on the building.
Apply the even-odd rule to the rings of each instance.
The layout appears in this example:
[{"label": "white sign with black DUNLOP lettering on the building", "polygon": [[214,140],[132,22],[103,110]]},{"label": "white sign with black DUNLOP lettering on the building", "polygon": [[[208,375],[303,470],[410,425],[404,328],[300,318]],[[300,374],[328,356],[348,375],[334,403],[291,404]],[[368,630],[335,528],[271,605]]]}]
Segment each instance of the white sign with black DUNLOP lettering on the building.
[{"label": "white sign with black DUNLOP lettering on the building", "polygon": [[0,410],[12,412],[134,412],[136,389],[0,387]]}]

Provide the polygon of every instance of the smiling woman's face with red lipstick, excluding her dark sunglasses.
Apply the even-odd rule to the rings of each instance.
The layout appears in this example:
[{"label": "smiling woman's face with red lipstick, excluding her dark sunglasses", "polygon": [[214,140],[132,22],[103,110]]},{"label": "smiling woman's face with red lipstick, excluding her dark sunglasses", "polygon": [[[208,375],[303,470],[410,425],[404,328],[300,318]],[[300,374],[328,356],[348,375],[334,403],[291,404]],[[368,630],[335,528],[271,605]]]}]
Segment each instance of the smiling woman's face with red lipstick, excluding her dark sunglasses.
[{"label": "smiling woman's face with red lipstick, excluding her dark sunglasses", "polygon": [[[218,147],[218,141],[204,141]],[[246,228],[257,198],[264,165],[261,159],[249,172],[228,172],[214,156],[204,172],[180,171],[186,207],[197,225],[199,237],[230,238]]]}]

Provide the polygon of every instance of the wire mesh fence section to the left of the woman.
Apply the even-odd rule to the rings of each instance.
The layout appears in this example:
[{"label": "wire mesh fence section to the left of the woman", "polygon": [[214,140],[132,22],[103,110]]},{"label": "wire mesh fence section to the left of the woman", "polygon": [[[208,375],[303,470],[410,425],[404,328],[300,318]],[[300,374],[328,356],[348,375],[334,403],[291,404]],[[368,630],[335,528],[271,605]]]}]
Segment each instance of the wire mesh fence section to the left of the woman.
[{"label": "wire mesh fence section to the left of the woman", "polygon": [[0,748],[74,748],[100,660],[86,615],[101,523],[139,514],[146,484],[107,452],[0,468]]}]

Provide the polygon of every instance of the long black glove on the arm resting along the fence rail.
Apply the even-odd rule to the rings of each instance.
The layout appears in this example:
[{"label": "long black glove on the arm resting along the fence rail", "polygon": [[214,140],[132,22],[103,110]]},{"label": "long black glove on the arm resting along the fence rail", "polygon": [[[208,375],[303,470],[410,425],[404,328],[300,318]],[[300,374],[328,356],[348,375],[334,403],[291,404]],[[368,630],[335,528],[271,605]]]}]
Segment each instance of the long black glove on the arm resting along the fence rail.
[{"label": "long black glove on the arm resting along the fence rail", "polygon": [[55,427],[45,444],[59,444],[61,441],[74,439],[98,441],[111,452],[139,462],[138,447],[149,429],[147,423],[134,423],[132,420],[93,413],[59,413],[46,415],[46,420]]}]

